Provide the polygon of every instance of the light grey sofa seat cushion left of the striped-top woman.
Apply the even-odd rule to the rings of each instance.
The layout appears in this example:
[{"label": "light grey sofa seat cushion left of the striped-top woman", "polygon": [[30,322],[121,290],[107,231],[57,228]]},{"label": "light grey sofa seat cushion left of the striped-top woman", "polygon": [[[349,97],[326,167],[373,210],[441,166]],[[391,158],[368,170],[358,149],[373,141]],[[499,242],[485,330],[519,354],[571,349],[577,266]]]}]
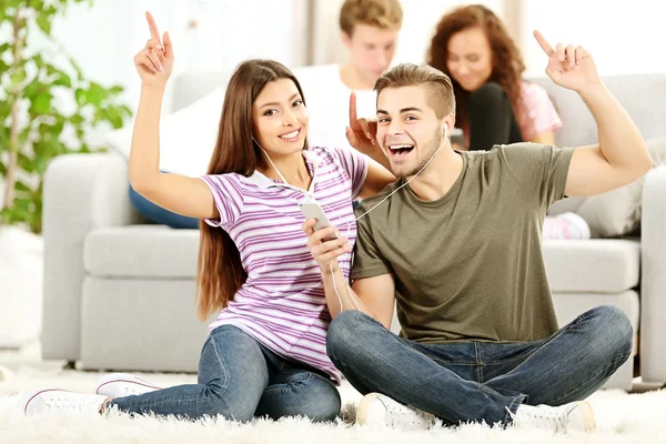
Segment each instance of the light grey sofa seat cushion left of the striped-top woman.
[{"label": "light grey sofa seat cushion left of the striped-top woman", "polygon": [[85,238],[83,266],[100,278],[194,279],[198,254],[199,230],[104,228]]}]

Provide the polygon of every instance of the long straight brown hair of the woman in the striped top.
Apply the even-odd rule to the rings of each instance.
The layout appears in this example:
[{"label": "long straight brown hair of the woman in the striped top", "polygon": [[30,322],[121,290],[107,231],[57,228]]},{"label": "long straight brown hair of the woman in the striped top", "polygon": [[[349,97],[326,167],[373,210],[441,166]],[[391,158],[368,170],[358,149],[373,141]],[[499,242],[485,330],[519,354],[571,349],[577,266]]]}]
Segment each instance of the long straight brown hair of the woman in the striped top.
[{"label": "long straight brown hair of the woman in the striped top", "polygon": [[[250,176],[264,167],[261,149],[252,139],[252,104],[264,87],[291,79],[305,103],[301,84],[283,64],[273,60],[241,63],[226,87],[215,150],[208,174],[238,173]],[[201,240],[196,265],[196,314],[205,320],[222,310],[248,279],[241,254],[226,231],[200,222]]]}]

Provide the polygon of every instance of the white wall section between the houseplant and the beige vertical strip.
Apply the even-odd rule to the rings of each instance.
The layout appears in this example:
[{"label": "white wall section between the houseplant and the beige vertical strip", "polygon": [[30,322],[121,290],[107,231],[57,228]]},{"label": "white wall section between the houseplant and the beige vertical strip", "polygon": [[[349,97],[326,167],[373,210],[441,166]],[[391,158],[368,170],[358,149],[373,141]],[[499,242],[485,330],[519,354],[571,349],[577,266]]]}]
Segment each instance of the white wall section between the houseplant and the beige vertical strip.
[{"label": "white wall section between the houseplant and the beige vertical strip", "polygon": [[[183,70],[232,70],[248,58],[305,63],[307,0],[95,0],[78,4],[53,24],[53,34],[79,61],[84,74],[102,84],[127,88],[135,109],[140,81],[132,58],[150,32],[144,11],[169,31]],[[189,23],[196,21],[195,28]],[[168,105],[168,104],[167,104]]]}]

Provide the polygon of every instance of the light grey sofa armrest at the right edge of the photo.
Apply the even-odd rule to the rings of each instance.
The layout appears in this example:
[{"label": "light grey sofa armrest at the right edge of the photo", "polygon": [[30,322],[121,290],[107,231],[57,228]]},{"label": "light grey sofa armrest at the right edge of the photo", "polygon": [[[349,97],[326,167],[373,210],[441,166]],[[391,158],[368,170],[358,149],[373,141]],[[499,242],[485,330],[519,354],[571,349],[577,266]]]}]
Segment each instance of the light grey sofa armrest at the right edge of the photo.
[{"label": "light grey sofa armrest at the right edge of the photo", "polygon": [[640,223],[640,373],[666,382],[666,167],[648,172]]}]

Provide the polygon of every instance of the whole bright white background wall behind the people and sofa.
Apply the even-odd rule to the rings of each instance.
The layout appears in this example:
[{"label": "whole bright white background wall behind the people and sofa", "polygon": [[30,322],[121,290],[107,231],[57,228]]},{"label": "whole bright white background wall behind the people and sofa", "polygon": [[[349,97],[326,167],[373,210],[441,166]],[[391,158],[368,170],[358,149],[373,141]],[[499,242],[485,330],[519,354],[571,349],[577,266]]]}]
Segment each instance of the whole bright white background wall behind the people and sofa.
[{"label": "whole bright white background wall behind the people and sofa", "polygon": [[[603,74],[666,71],[660,44],[666,26],[658,0],[485,0],[507,19],[521,10],[515,27],[529,73],[542,73],[545,59],[532,38],[538,28],[553,42],[587,47]],[[149,38],[144,10],[169,30],[175,44],[175,71],[231,70],[250,57],[273,58],[290,67],[307,62],[309,7],[314,63],[342,62],[337,18],[342,0],[95,0],[79,4],[53,26],[54,36],[79,61],[87,77],[127,88],[124,100],[135,108],[140,91],[132,58]],[[395,62],[424,60],[440,18],[462,0],[402,0],[404,24]],[[195,29],[188,23],[195,19]],[[592,23],[594,19],[594,24]],[[512,29],[513,31],[513,29]]]}]

